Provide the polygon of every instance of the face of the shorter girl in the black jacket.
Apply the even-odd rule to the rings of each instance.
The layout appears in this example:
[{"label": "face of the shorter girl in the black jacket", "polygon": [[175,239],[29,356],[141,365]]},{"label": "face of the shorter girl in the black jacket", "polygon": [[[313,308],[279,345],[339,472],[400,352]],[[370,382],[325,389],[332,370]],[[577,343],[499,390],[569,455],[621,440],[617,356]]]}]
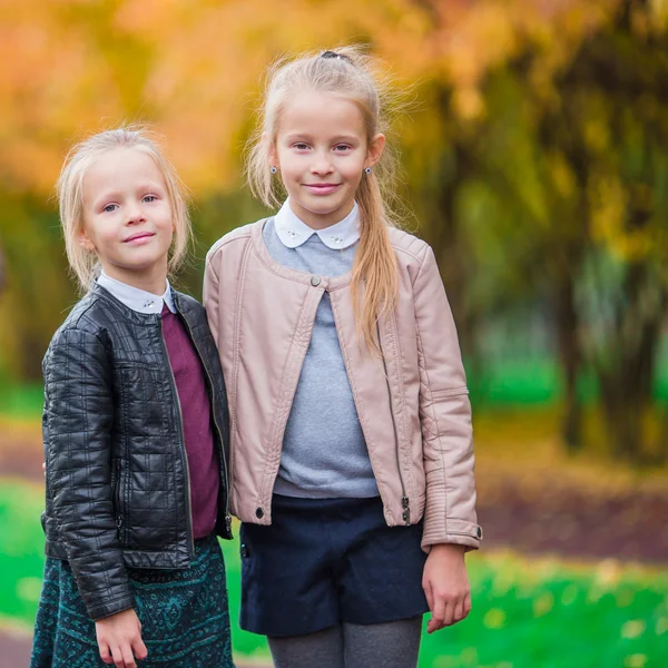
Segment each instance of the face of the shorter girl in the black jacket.
[{"label": "face of the shorter girl in the black jacket", "polygon": [[86,171],[82,190],[79,243],[112,278],[161,294],[174,212],[153,158],[135,148],[110,150]]}]

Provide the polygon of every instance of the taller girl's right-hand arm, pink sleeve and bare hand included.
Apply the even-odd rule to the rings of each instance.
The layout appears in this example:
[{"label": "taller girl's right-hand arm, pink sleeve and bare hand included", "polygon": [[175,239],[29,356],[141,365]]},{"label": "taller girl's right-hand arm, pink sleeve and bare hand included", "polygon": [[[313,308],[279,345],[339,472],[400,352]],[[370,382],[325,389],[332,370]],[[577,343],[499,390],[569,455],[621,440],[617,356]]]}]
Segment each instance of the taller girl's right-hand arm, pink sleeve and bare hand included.
[{"label": "taller girl's right-hand arm, pink sleeve and bare hand included", "polygon": [[479,547],[471,405],[456,328],[428,246],[414,284],[420,361],[420,414],[426,508],[422,546],[430,550],[423,588],[432,611],[428,631],[471,610],[464,552]]}]

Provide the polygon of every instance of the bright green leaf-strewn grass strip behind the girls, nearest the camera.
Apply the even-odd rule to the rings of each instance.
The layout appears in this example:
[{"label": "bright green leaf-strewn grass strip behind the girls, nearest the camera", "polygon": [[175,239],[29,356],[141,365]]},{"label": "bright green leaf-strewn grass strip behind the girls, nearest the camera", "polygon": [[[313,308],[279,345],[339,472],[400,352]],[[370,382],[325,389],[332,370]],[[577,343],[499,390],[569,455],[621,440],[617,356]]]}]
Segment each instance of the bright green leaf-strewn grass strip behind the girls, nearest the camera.
[{"label": "bright green leaf-strewn grass strip behind the girls, nearest the camera", "polygon": [[[0,481],[0,619],[28,629],[43,566],[41,509],[37,487]],[[266,656],[262,638],[236,627],[237,549],[237,541],[224,544],[234,647]],[[425,636],[421,668],[668,665],[668,569],[481,552],[469,558],[469,571],[473,611],[463,623]]]}]

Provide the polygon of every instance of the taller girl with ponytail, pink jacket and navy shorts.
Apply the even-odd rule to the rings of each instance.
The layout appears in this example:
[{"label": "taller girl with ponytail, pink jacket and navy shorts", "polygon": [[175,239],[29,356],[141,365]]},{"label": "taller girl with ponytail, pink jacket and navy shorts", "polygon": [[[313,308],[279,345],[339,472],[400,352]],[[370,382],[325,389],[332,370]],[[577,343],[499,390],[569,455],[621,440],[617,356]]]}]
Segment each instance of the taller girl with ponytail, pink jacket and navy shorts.
[{"label": "taller girl with ponytail, pink jacket and navy shorts", "polygon": [[407,668],[470,608],[471,412],[432,249],[393,226],[358,49],[271,75],[248,180],[278,213],[207,256],[230,406],[242,612],[277,668]]}]

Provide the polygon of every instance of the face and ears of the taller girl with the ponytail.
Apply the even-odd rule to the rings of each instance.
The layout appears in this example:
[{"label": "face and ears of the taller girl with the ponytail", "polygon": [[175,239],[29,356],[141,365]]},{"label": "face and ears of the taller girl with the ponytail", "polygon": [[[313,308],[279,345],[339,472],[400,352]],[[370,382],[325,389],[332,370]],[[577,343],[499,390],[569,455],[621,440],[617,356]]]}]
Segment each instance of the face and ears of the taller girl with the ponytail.
[{"label": "face and ears of the taller girl with the ponytail", "polygon": [[364,168],[375,165],[384,145],[383,135],[369,141],[352,100],[302,92],[281,114],[269,165],[279,168],[293,212],[322,229],[350,214]]}]

